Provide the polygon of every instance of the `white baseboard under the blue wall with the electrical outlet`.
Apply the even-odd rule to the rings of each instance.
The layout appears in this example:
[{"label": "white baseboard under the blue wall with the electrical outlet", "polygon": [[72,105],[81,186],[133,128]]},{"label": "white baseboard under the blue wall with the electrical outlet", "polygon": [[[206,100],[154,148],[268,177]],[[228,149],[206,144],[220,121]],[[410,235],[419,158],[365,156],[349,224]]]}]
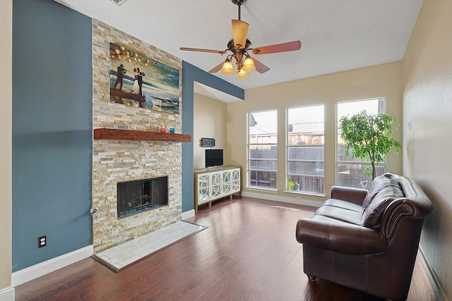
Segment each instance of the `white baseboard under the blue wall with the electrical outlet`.
[{"label": "white baseboard under the blue wall with the electrical outlet", "polygon": [[89,245],[88,247],[83,247],[68,254],[49,259],[46,262],[41,262],[26,269],[16,271],[11,276],[11,285],[17,286],[28,282],[37,277],[49,274],[52,271],[57,271],[57,269],[61,269],[64,266],[69,266],[69,264],[73,264],[74,262],[91,257],[93,254],[94,247],[93,245]]}]

